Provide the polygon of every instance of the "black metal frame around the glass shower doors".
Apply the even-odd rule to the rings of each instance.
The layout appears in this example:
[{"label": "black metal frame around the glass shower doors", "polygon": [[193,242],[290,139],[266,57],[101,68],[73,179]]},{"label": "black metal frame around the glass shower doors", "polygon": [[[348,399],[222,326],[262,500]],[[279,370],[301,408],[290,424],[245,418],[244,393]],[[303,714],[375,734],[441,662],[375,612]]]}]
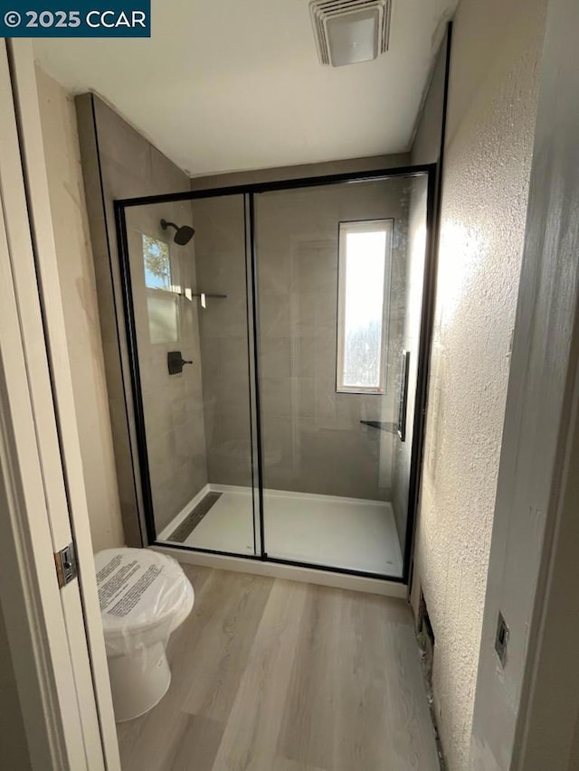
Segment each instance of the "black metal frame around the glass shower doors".
[{"label": "black metal frame around the glass shower doors", "polygon": [[[135,324],[135,309],[133,305],[133,294],[131,287],[130,263],[128,253],[128,230],[126,212],[128,209],[136,206],[146,206],[156,203],[171,203],[183,201],[195,201],[199,199],[218,198],[229,195],[242,195],[246,206],[246,249],[249,246],[249,255],[246,254],[246,260],[251,261],[250,275],[252,277],[252,286],[249,287],[248,296],[251,296],[252,302],[252,328],[249,329],[250,344],[252,355],[252,366],[254,372],[253,388],[255,392],[255,430],[256,430],[256,467],[257,467],[257,490],[258,490],[258,517],[260,522],[260,541],[261,553],[248,555],[238,554],[231,551],[219,551],[210,549],[200,549],[182,544],[171,543],[170,548],[176,550],[197,551],[206,554],[214,554],[223,557],[239,557],[242,559],[257,560],[262,562],[273,562],[280,565],[290,565],[293,567],[324,570],[332,573],[341,573],[349,576],[360,576],[363,578],[377,578],[381,580],[392,581],[394,583],[407,584],[410,577],[410,570],[413,555],[413,537],[414,525],[416,520],[416,510],[418,507],[418,494],[422,474],[422,451],[424,442],[424,423],[427,398],[427,380],[430,363],[430,351],[432,342],[432,316],[434,306],[434,288],[435,288],[435,192],[437,180],[437,165],[409,165],[400,166],[394,169],[381,169],[366,172],[352,172],[348,174],[327,174],[322,176],[300,177],[297,179],[280,180],[266,183],[252,183],[242,185],[232,185],[228,187],[215,187],[204,190],[194,190],[185,193],[165,193],[161,195],[148,195],[139,198],[119,199],[114,202],[115,223],[117,228],[117,242],[119,246],[119,267],[122,287],[122,301],[125,316],[125,325],[127,330],[128,344],[128,363],[130,374],[130,387],[132,392],[132,404],[135,418],[135,437],[137,442],[137,456],[140,475],[140,489],[143,502],[143,518],[147,526],[147,546],[167,547],[166,542],[157,541],[157,530],[153,511],[153,499],[151,494],[151,481],[147,456],[147,433],[145,429],[145,412],[143,408],[143,399],[141,392],[140,372],[138,366],[138,340],[137,328]],[[259,362],[259,313],[258,313],[258,255],[256,246],[256,228],[255,228],[255,196],[260,193],[281,192],[289,190],[298,190],[300,188],[320,187],[324,185],[335,184],[355,184],[363,182],[380,182],[396,177],[426,177],[427,209],[426,209],[426,248],[424,259],[424,284],[422,290],[422,311],[421,311],[421,331],[418,351],[418,378],[416,384],[416,406],[414,409],[413,424],[413,447],[411,454],[411,470],[409,481],[408,511],[406,519],[406,541],[403,554],[403,575],[388,576],[382,573],[369,573],[363,570],[354,570],[339,568],[335,566],[318,565],[311,562],[299,562],[291,559],[278,559],[271,557],[265,550],[264,534],[264,514],[263,514],[263,456],[262,456],[262,437],[261,437],[261,398],[260,398],[260,362]],[[249,326],[248,317],[248,326]],[[129,401],[126,401],[126,407],[129,409]],[[133,475],[135,484],[138,484],[137,470],[133,466]],[[255,531],[255,512],[253,517],[253,528]]]}]

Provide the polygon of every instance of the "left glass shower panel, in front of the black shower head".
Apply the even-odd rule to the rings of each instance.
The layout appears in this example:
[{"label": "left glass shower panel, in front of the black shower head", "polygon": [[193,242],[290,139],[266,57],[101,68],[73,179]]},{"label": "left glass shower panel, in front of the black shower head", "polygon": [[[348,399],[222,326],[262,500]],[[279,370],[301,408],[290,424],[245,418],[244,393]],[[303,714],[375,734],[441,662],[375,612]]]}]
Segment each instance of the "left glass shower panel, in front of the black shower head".
[{"label": "left glass shower panel, in front of the black shower head", "polygon": [[242,195],[126,210],[139,465],[155,540],[259,553]]}]

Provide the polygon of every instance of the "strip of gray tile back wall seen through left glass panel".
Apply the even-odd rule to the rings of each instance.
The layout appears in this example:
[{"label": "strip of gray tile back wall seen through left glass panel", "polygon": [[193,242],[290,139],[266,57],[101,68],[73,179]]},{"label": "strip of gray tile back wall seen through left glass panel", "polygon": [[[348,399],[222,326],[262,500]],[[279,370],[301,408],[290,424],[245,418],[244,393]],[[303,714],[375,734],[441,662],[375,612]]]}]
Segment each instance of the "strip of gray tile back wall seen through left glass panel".
[{"label": "strip of gray tile back wall seen through left glass panel", "polygon": [[[209,481],[252,486],[252,412],[242,195],[192,202]],[[199,304],[200,305],[200,304]]]}]

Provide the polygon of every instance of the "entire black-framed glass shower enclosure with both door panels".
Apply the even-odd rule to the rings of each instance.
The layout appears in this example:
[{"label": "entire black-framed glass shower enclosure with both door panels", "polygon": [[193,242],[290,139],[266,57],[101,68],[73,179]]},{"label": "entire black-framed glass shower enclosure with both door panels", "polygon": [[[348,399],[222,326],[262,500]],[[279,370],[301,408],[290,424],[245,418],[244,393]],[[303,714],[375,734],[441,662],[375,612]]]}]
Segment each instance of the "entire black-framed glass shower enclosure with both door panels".
[{"label": "entire black-framed glass shower enclosure with both door panels", "polygon": [[150,543],[406,580],[432,183],[116,203]]}]

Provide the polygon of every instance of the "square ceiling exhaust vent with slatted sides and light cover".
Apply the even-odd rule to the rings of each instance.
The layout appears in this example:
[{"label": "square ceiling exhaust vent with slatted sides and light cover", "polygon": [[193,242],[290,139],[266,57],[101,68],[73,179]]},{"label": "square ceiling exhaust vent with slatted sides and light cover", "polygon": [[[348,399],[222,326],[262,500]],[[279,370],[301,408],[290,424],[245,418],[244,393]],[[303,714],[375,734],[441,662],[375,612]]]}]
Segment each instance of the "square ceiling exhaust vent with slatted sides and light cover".
[{"label": "square ceiling exhaust vent with slatted sides and light cover", "polygon": [[392,0],[313,0],[319,61],[332,67],[370,61],[388,50]]}]

